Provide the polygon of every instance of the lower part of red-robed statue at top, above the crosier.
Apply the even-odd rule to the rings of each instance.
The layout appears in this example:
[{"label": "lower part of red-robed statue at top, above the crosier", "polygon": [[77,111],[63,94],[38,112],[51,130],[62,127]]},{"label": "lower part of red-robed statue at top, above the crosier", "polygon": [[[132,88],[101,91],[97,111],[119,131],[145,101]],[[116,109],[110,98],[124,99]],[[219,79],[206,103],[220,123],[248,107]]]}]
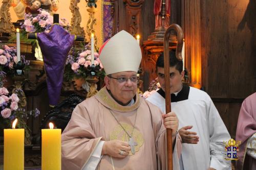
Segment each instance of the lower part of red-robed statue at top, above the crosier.
[{"label": "lower part of red-robed statue at top, above the crosier", "polygon": [[162,26],[162,16],[161,16],[161,9],[162,9],[162,0],[155,0],[154,2],[154,14],[156,16],[156,27],[155,30],[158,29],[167,29],[170,22],[170,0],[165,0],[165,19]]}]

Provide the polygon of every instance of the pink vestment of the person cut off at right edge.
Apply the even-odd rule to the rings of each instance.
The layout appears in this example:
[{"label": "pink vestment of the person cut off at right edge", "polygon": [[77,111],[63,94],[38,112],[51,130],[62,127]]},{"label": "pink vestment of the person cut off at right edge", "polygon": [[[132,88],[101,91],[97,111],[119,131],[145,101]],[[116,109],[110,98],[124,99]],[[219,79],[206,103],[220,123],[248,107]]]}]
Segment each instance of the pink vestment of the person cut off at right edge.
[{"label": "pink vestment of the person cut off at right edge", "polygon": [[247,140],[256,133],[256,92],[248,96],[241,107],[236,140],[241,141],[238,151],[237,169],[256,169],[256,160],[246,154]]}]

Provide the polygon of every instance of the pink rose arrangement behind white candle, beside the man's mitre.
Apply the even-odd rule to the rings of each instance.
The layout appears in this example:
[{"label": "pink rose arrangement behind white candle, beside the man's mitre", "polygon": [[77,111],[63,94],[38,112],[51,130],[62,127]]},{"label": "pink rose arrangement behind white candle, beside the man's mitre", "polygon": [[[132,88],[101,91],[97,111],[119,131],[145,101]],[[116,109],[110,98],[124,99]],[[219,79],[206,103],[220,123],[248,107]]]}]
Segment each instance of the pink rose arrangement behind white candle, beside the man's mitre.
[{"label": "pink rose arrangement behind white candle, beside the man's mitre", "polygon": [[[88,76],[90,76],[92,71],[92,63],[91,51],[89,49],[89,45],[86,45],[83,51],[75,51],[74,48],[71,49],[66,61],[64,72],[64,78],[67,81],[72,81],[74,78],[86,79]],[[97,77],[103,77],[105,72],[98,56],[98,53],[94,53],[94,71]]]}]

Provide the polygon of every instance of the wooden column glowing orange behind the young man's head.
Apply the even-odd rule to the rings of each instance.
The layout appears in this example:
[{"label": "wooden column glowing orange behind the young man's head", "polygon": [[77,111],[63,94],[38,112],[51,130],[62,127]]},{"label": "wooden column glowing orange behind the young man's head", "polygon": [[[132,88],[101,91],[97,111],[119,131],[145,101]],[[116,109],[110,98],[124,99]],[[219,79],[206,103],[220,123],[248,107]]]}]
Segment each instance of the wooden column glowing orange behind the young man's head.
[{"label": "wooden column glowing orange behind the young man's head", "polygon": [[185,68],[189,85],[202,87],[200,0],[182,0],[182,28],[185,38]]}]

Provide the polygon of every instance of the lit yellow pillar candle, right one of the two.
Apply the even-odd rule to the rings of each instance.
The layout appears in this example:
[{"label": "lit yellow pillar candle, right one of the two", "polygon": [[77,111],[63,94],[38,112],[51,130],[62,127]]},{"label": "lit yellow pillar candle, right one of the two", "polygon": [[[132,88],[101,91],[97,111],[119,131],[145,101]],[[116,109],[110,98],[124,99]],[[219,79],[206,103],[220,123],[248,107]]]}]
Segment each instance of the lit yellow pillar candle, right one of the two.
[{"label": "lit yellow pillar candle, right one of the two", "polygon": [[61,169],[61,129],[42,129],[42,170]]}]

